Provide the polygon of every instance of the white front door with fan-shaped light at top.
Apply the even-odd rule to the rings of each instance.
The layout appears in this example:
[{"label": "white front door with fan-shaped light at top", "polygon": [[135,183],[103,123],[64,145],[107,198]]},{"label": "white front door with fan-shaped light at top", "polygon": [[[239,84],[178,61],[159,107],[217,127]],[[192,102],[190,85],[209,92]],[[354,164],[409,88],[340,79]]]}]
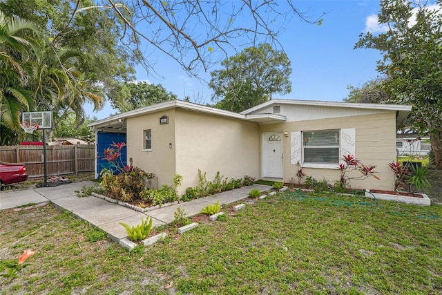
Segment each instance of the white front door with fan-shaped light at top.
[{"label": "white front door with fan-shaped light at top", "polygon": [[263,133],[262,176],[282,178],[282,133]]}]

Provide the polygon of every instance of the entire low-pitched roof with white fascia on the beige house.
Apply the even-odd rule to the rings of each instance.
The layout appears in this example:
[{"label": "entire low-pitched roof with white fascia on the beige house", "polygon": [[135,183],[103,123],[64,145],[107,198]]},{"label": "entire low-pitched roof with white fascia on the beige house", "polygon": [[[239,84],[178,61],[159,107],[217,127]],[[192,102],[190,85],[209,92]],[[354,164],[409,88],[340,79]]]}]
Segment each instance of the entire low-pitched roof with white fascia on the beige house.
[{"label": "entire low-pitched roof with white fascia on the beige house", "polygon": [[[284,115],[278,115],[273,113],[259,113],[259,110],[272,104],[298,104],[298,105],[310,105],[310,106],[329,106],[329,107],[344,107],[344,108],[372,108],[378,110],[396,111],[396,127],[400,126],[411,111],[411,106],[401,106],[396,104],[354,104],[345,102],[320,102],[309,100],[292,100],[292,99],[272,99],[269,102],[260,104],[253,108],[249,108],[242,113],[234,113],[230,111],[220,110],[218,108],[212,108],[210,106],[202,106],[200,104],[193,104],[191,102],[183,102],[182,100],[170,100],[162,102],[160,104],[154,104],[152,106],[146,106],[144,108],[137,108],[133,111],[128,111],[111,117],[106,117],[102,120],[98,120],[88,124],[88,127],[95,130],[103,130],[108,132],[126,132],[126,119],[130,117],[137,117],[140,115],[146,115],[148,113],[155,113],[157,111],[166,111],[173,108],[181,108],[187,111],[195,111],[198,113],[206,113],[209,115],[219,115],[223,117],[229,117],[236,120],[245,120],[258,123],[271,123],[271,122],[285,122],[286,117]],[[253,114],[252,114],[253,113]]]}]

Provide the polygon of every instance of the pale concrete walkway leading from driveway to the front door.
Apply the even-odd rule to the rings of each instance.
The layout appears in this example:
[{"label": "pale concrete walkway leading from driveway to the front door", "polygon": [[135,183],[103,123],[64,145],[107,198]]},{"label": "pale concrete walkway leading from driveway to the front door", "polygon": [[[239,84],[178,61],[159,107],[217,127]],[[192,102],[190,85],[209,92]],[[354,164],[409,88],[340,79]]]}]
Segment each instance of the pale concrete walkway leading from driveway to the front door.
[{"label": "pale concrete walkway leading from driveway to the front door", "polygon": [[51,202],[55,206],[70,211],[75,216],[106,231],[115,242],[118,242],[127,236],[126,229],[119,225],[119,222],[137,225],[143,217],[151,216],[153,218],[153,226],[166,225],[173,221],[173,213],[178,207],[183,209],[187,216],[194,216],[200,213],[202,208],[208,204],[215,204],[218,200],[220,200],[220,204],[229,204],[248,198],[251,189],[260,189],[260,191],[271,189],[267,185],[253,184],[249,187],[224,191],[214,196],[141,213],[93,196],[77,197],[75,190],[79,190],[84,186],[91,187],[94,185],[97,185],[97,183],[85,181],[62,184],[58,187],[1,191],[0,210],[12,209],[26,204]]}]

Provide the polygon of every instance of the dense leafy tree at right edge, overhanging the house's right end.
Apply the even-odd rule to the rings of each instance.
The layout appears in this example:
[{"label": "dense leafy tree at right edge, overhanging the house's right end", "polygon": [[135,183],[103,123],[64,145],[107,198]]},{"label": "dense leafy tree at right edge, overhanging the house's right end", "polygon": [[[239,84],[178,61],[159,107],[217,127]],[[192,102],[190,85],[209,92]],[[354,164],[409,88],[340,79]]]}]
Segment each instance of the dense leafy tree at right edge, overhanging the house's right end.
[{"label": "dense leafy tree at right edge, overhanging the house's right end", "polygon": [[[427,5],[426,5],[427,4]],[[383,0],[378,23],[385,32],[360,36],[355,48],[383,53],[378,71],[390,103],[411,104],[411,120],[421,133],[430,133],[436,168],[442,169],[442,13],[439,4]]]}]

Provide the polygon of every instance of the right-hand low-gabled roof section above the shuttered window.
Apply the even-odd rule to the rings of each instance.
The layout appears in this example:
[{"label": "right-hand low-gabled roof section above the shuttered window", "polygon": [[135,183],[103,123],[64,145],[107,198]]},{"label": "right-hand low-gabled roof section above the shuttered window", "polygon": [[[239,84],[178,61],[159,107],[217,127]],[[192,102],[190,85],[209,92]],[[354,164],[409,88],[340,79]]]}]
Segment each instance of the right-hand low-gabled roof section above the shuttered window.
[{"label": "right-hand low-gabled roof section above the shuttered window", "polygon": [[412,106],[402,104],[361,104],[354,102],[324,102],[319,100],[296,100],[296,99],[271,99],[268,102],[254,106],[240,114],[248,115],[250,113],[257,113],[260,109],[267,108],[268,106],[290,104],[290,105],[307,105],[307,106],[328,106],[332,108],[363,108],[373,110],[385,110],[396,111],[396,129],[403,124],[405,118],[412,110]]}]

